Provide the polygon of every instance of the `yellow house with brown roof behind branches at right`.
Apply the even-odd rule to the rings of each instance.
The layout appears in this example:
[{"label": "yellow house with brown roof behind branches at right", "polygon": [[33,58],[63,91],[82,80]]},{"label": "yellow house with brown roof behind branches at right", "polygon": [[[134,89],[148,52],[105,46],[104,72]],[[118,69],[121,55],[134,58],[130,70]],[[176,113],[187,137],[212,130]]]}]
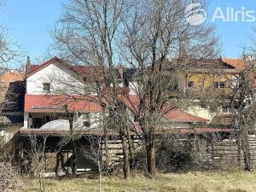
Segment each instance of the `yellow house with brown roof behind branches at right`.
[{"label": "yellow house with brown roof behind branches at right", "polygon": [[[195,98],[186,112],[209,119],[210,123],[215,116],[231,113],[230,107],[224,101],[229,100],[232,86],[236,84],[236,78],[243,69],[242,60],[223,57],[189,67],[185,74],[185,90],[194,96],[198,94],[201,96],[200,100],[206,102],[202,103]],[[211,100],[218,102],[209,107]]]}]

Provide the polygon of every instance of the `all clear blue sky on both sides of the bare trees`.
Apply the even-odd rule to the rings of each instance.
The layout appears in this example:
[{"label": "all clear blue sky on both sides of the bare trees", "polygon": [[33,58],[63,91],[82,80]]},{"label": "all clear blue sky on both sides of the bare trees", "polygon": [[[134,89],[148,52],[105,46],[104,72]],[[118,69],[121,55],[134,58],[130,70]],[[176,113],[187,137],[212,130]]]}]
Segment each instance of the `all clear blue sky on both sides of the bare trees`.
[{"label": "all clear blue sky on both sides of the bare trees", "polygon": [[[7,6],[0,12],[0,23],[3,23],[15,34],[15,40],[26,49],[27,54],[35,61],[36,55],[44,56],[51,42],[49,29],[61,14],[61,3],[65,0],[8,0]],[[256,1],[254,0],[212,0],[207,11],[210,20],[215,9],[220,7],[226,12],[227,7],[240,10],[254,10],[256,17]],[[216,20],[217,32],[223,45],[222,55],[238,57],[243,46],[251,44],[249,38],[255,22],[223,22]],[[256,37],[256,34],[255,34]]]}]

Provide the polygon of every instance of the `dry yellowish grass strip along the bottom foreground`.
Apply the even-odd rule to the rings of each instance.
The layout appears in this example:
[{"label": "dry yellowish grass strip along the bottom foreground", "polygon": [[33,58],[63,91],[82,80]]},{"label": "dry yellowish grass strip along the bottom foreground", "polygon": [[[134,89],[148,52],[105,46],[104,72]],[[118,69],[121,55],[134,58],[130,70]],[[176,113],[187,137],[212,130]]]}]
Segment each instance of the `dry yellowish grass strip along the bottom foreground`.
[{"label": "dry yellowish grass strip along the bottom foreground", "polygon": [[[36,179],[26,179],[19,191],[38,191]],[[46,179],[46,191],[97,191],[97,180],[86,177]],[[248,172],[189,172],[159,174],[154,179],[143,176],[124,180],[103,177],[102,191],[109,192],[253,192],[256,191],[256,173]]]}]

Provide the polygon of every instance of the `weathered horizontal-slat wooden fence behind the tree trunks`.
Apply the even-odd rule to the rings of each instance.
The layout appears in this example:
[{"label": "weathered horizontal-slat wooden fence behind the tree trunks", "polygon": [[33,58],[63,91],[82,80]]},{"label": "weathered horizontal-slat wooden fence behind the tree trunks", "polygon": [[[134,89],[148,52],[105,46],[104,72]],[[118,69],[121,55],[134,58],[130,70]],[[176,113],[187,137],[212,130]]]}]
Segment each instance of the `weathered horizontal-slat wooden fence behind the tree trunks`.
[{"label": "weathered horizontal-slat wooden fence behind the tree trunks", "polygon": [[[179,142],[189,142],[189,140],[181,139]],[[137,150],[142,149],[142,143],[139,139],[134,139],[133,143],[134,147],[137,148]],[[253,166],[256,168],[256,135],[249,136],[249,144],[251,160],[253,162]],[[103,154],[105,154],[104,146],[104,143],[102,143]],[[221,168],[228,167],[230,169],[244,166],[243,152],[241,148],[238,147],[235,139],[220,139],[214,143],[213,148],[211,144],[206,144],[206,146],[201,147],[201,153],[202,151],[206,151],[202,153],[202,156],[204,156],[204,160],[212,166],[218,166]],[[119,139],[108,141],[108,153],[109,160],[112,166],[118,164],[119,162],[122,162],[123,150],[121,141]]]}]

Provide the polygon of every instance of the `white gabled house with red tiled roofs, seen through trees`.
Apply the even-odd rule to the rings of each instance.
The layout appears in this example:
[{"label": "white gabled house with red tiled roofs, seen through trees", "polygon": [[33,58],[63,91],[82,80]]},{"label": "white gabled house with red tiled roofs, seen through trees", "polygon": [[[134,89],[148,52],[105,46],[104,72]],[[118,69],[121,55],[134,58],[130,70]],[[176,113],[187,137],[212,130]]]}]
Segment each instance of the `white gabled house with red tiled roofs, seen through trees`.
[{"label": "white gabled house with red tiled roofs, seen through trees", "polygon": [[[96,127],[96,122],[102,114],[102,106],[96,100],[93,82],[88,82],[88,79],[84,80],[84,77],[96,72],[91,72],[90,67],[69,66],[56,57],[41,65],[30,63],[28,65],[26,67],[24,129],[38,129],[50,121],[67,120],[70,112],[74,113],[74,119],[84,121],[84,128]],[[132,80],[126,85],[121,83],[124,75],[132,79],[134,71],[120,68],[116,70],[116,73],[120,88],[129,90],[130,102],[138,102],[137,84]],[[98,78],[100,73],[94,75],[90,79]],[[131,119],[134,121],[132,113]],[[177,108],[166,113],[166,119],[176,123],[207,122],[207,119],[196,117]],[[187,119],[187,122],[184,119]]]}]

